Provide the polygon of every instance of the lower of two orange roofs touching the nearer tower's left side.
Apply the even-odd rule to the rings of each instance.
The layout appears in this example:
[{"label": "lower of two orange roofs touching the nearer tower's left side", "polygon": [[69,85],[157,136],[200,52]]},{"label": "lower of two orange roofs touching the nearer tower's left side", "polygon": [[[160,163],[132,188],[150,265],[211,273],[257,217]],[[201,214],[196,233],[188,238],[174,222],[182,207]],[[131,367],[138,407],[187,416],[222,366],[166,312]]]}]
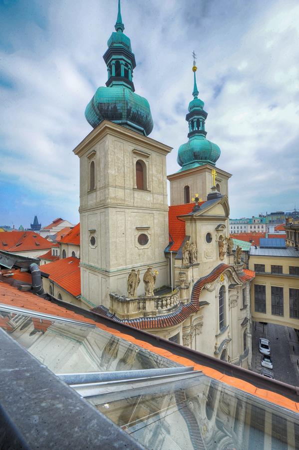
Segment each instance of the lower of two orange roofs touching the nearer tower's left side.
[{"label": "lower of two orange roofs touching the nearer tower's left side", "polygon": [[49,279],[62,289],[77,297],[81,293],[80,259],[72,256],[39,266],[40,271],[48,273]]}]

